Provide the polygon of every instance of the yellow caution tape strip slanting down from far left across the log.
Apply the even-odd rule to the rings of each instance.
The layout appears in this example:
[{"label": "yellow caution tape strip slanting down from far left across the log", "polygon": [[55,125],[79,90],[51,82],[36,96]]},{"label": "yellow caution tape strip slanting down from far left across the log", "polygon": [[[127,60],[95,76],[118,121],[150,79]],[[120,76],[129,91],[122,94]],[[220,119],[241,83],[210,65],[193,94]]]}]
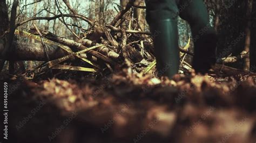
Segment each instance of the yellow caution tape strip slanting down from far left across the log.
[{"label": "yellow caution tape strip slanting down from far left across the log", "polygon": [[[35,40],[38,40],[38,41],[41,41],[41,37],[39,37],[38,35],[35,35],[35,34],[31,34],[29,32],[26,32],[26,31],[19,31],[19,30],[15,30],[14,34],[16,35],[21,35],[23,37],[27,37],[27,38],[30,38],[30,39],[35,39]],[[56,46],[59,46],[60,48],[64,49],[66,52],[69,52],[70,54],[73,54],[74,52],[70,49],[70,48],[66,48],[64,45],[62,44],[59,44],[57,42],[54,42],[54,41],[51,41],[49,39],[46,39],[46,38],[43,38],[44,39],[44,42],[46,44],[52,44],[52,45],[56,45]],[[77,58],[89,63],[90,65],[94,66],[93,63],[85,58],[83,58],[82,56],[80,55],[75,55],[77,56]]]}]

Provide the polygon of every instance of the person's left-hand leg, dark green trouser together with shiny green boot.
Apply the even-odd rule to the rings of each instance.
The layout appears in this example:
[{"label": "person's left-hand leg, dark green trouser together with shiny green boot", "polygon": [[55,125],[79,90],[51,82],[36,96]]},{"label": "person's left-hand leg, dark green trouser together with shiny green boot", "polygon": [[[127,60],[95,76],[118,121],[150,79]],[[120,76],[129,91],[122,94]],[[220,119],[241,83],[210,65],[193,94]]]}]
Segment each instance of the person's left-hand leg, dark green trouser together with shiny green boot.
[{"label": "person's left-hand leg, dark green trouser together with shiny green boot", "polygon": [[147,0],[146,20],[153,35],[159,76],[178,73],[178,8],[175,0]]}]

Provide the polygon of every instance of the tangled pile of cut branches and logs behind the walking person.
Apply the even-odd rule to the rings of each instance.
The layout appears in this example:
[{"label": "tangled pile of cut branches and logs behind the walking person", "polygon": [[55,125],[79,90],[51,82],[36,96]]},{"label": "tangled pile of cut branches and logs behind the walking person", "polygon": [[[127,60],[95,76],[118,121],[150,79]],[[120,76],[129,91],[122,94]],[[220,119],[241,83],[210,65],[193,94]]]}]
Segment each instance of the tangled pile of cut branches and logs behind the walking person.
[{"label": "tangled pile of cut branches and logs behind the walking person", "polygon": [[[23,22],[16,23],[16,27],[18,27],[32,20],[59,18],[76,37],[76,40],[64,38],[49,31],[39,30],[35,24],[28,32],[16,30],[15,34],[18,37],[32,38],[38,40],[38,42],[14,41],[13,46],[15,48],[12,49],[12,56],[5,57],[7,58],[6,60],[45,61],[43,65],[25,71],[21,75],[25,77],[42,75],[49,71],[52,72],[51,69],[90,71],[90,73],[113,72],[124,67],[124,65],[125,67],[131,67],[132,71],[138,73],[152,73],[149,71],[156,65],[152,39],[159,33],[157,31],[154,33],[150,33],[148,30],[142,31],[143,28],[140,27],[138,20],[133,18],[132,15],[132,8],[144,9],[145,6],[135,5],[134,0],[130,0],[110,23],[105,23],[102,20],[90,19],[79,15],[77,11],[71,8],[68,1],[64,0],[63,2],[71,12],[70,14],[61,13],[53,17],[31,17]],[[85,29],[77,25],[68,25],[65,23],[64,17],[84,20],[90,26]],[[84,32],[77,35],[69,26],[77,26]],[[193,56],[193,53],[189,50],[191,48],[190,41],[191,39],[189,38],[186,46],[179,48],[180,73],[186,73],[192,69],[190,63],[185,61],[187,55]],[[86,51],[85,49],[88,48],[90,50]],[[4,44],[0,41],[0,52],[3,49]],[[244,56],[247,56],[247,54],[242,54],[241,58]],[[3,57],[0,55],[0,58]],[[217,61],[226,63],[237,61],[239,58],[228,57]],[[218,66],[217,69],[230,70],[230,68],[224,68],[224,66],[221,68]]]}]

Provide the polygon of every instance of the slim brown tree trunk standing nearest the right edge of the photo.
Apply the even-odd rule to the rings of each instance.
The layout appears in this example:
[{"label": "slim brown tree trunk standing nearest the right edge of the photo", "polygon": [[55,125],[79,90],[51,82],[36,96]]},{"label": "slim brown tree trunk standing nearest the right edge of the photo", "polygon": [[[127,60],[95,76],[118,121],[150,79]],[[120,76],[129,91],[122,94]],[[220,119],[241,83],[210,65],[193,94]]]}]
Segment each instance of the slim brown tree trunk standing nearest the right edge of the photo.
[{"label": "slim brown tree trunk standing nearest the right edge of the photo", "polygon": [[[245,51],[247,53],[250,52],[250,44],[251,44],[251,16],[252,16],[252,3],[253,0],[248,0],[247,1],[247,11],[246,11],[246,17],[248,18],[247,20],[247,26],[245,29]],[[250,70],[250,57],[245,57],[244,59],[244,70]]]}]

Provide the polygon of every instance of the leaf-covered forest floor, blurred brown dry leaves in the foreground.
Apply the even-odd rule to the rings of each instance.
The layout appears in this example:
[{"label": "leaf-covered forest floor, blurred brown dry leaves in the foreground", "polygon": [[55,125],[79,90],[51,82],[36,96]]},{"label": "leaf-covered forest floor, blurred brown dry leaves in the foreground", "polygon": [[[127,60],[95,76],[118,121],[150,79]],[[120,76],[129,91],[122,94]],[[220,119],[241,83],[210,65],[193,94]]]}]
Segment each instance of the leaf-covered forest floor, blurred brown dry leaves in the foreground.
[{"label": "leaf-covered forest floor, blurred brown dry leaves in the foreground", "polygon": [[124,69],[99,79],[12,81],[10,141],[255,143],[255,79],[159,80]]}]

